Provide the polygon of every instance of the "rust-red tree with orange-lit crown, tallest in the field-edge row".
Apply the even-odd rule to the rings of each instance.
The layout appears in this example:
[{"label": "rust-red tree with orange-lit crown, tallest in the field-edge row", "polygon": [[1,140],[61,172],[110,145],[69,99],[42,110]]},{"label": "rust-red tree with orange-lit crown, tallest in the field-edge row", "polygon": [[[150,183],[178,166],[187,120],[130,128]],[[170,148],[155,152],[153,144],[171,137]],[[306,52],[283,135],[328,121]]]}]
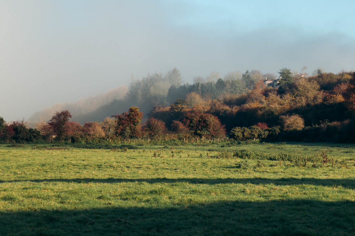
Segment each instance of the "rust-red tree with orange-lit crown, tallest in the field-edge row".
[{"label": "rust-red tree with orange-lit crown, tallest in the field-edge row", "polygon": [[128,112],[113,116],[116,118],[116,134],[123,138],[140,137],[140,123],[143,113],[138,107],[131,107]]}]

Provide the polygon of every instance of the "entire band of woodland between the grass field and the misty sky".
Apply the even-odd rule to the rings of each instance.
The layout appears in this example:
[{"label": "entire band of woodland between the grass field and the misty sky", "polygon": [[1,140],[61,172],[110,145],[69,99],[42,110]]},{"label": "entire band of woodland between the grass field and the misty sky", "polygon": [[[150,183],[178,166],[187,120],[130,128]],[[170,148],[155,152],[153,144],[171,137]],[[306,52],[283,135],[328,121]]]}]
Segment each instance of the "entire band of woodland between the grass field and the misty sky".
[{"label": "entire band of woodland between the grass field and the misty sky", "polygon": [[246,70],[182,81],[176,68],[132,79],[122,98],[73,116],[56,111],[35,128],[0,117],[0,142],[355,142],[354,71],[307,75],[282,68],[275,76]]}]

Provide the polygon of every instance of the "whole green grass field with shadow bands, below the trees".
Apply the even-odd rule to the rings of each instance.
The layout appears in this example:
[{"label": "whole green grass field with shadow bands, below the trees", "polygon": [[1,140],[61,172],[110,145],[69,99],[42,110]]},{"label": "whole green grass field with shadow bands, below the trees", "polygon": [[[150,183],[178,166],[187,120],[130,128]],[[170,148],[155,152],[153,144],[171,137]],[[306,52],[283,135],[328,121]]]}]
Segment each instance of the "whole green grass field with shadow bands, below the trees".
[{"label": "whole green grass field with shadow bands, below the trees", "polygon": [[355,235],[355,145],[32,146],[0,146],[0,235]]}]

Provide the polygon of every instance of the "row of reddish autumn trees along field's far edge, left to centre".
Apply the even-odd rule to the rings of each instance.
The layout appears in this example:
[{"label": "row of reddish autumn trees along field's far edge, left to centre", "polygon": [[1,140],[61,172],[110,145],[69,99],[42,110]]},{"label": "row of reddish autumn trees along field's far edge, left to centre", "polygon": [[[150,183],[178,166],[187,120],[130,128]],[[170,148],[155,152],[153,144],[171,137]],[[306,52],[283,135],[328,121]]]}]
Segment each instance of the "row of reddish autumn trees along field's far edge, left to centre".
[{"label": "row of reddish autumn trees along field's far edge, left to centre", "polygon": [[89,122],[80,125],[69,121],[69,111],[56,112],[47,123],[39,123],[36,128],[27,128],[26,123],[6,123],[0,117],[1,143],[121,143],[130,139],[168,140],[184,139],[185,142],[200,139],[223,139],[225,129],[216,116],[189,113],[183,120],[174,121],[169,131],[161,120],[149,117],[141,123],[143,114],[137,107],[103,122]]}]

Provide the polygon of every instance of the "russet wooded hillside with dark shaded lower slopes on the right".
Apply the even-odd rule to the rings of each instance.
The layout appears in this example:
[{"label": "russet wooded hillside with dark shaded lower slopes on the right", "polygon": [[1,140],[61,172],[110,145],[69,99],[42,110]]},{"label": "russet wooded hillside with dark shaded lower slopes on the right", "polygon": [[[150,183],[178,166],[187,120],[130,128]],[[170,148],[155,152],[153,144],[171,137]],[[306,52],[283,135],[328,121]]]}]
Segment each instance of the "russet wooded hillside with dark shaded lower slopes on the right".
[{"label": "russet wooded hillside with dark shaded lower slopes on the right", "polygon": [[[149,115],[173,130],[171,125],[189,113],[210,114],[236,140],[355,142],[354,72],[318,70],[307,76],[282,68],[279,74],[275,88],[258,80],[251,83],[252,90],[239,93],[231,92],[237,86],[230,86],[226,79],[170,87],[169,93],[178,90],[181,97],[170,106],[154,107]],[[249,76],[246,71],[234,84],[245,84]]]}]

